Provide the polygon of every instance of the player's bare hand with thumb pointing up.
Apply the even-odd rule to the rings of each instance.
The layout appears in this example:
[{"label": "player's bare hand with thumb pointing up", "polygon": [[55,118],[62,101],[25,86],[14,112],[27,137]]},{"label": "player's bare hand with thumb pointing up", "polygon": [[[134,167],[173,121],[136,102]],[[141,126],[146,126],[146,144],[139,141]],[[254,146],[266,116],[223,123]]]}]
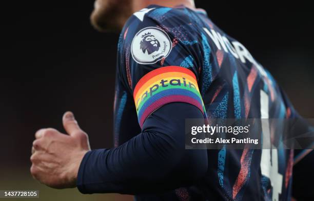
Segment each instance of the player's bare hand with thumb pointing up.
[{"label": "player's bare hand with thumb pointing up", "polygon": [[78,126],[72,112],[66,112],[62,120],[68,135],[52,128],[38,130],[30,157],[33,177],[57,189],[76,186],[78,168],[90,150],[88,135]]}]

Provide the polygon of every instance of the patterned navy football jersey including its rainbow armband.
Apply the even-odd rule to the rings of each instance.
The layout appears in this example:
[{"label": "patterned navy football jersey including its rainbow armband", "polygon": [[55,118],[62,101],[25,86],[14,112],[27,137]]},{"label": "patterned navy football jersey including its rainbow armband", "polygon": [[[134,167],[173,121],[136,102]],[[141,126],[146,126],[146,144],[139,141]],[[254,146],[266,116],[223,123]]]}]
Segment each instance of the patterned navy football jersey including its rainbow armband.
[{"label": "patterned navy football jersey including its rainbow armband", "polygon": [[[205,118],[299,117],[270,73],[205,11],[150,5],[134,13],[120,34],[114,145],[141,132],[146,117],[170,102],[195,105]],[[173,190],[178,200],[290,200],[293,150],[207,155],[206,176]]]}]

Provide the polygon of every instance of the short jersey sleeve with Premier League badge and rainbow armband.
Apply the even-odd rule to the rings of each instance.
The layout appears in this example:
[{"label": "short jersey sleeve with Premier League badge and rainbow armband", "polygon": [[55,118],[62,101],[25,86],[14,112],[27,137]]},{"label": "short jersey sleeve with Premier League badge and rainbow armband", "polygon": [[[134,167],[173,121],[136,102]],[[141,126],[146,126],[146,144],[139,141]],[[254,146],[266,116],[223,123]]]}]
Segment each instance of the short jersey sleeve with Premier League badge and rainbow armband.
[{"label": "short jersey sleeve with Premier League badge and rainbow armband", "polygon": [[119,70],[133,95],[139,125],[143,127],[153,111],[173,102],[191,104],[206,116],[198,87],[201,50],[197,35],[192,29],[180,29],[187,24],[180,16],[160,23],[154,12],[161,11],[152,9],[143,21],[131,18],[119,50]]}]

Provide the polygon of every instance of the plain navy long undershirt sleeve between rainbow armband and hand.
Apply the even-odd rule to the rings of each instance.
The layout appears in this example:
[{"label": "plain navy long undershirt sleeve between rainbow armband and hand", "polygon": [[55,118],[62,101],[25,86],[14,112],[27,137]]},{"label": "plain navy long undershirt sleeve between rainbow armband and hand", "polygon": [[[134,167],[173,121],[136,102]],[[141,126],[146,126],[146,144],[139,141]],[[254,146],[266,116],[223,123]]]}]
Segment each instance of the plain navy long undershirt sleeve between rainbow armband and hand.
[{"label": "plain navy long undershirt sleeve between rainbow armband and hand", "polygon": [[77,175],[78,190],[145,194],[193,184],[207,171],[207,152],[185,149],[186,118],[203,114],[187,103],[166,104],[128,142],[87,152]]}]

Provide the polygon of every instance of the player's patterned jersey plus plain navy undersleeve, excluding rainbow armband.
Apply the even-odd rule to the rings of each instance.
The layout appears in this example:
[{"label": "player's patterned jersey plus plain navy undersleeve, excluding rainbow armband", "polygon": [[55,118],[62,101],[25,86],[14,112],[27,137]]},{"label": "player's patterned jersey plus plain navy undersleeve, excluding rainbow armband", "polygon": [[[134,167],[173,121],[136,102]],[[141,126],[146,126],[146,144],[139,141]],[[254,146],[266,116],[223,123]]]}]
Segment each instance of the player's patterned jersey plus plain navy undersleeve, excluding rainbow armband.
[{"label": "player's patterned jersey plus plain navy undersleeve, excluding rainbow armband", "polygon": [[[162,30],[171,43],[154,61],[132,53],[134,37],[147,28]],[[158,39],[153,32],[139,37]],[[155,44],[139,44],[138,51],[163,47]],[[167,102],[140,126],[136,85],[169,66],[195,75],[205,112]],[[203,10],[151,5],[129,18],[119,38],[114,102],[115,148],[85,155],[81,192],[129,193],[136,200],[290,200],[293,150],[184,150],[185,118],[301,118],[270,73]]]}]

